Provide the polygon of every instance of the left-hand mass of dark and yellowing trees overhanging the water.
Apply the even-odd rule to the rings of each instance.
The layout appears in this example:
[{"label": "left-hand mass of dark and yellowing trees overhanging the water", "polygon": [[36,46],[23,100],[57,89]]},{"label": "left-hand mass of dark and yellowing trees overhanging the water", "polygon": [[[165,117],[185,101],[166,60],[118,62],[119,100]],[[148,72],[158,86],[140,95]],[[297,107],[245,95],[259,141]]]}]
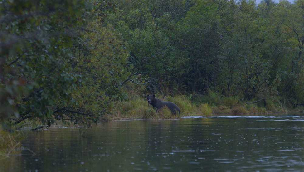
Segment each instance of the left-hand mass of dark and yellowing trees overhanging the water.
[{"label": "left-hand mass of dark and yellowing trees overhanging the water", "polygon": [[[106,118],[128,76],[127,51],[105,24],[111,1],[3,1],[1,122],[88,124]],[[9,121],[9,123],[7,123]]]}]

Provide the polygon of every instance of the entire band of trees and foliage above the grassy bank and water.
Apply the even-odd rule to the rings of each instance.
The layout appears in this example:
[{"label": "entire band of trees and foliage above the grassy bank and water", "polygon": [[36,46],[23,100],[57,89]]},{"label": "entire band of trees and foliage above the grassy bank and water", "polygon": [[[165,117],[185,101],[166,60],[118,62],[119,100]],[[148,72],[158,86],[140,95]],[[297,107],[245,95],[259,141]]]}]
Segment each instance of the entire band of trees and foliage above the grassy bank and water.
[{"label": "entire band of trees and foliage above the grassy bank and water", "polygon": [[0,3],[2,124],[90,124],[136,90],[303,105],[302,0]]}]

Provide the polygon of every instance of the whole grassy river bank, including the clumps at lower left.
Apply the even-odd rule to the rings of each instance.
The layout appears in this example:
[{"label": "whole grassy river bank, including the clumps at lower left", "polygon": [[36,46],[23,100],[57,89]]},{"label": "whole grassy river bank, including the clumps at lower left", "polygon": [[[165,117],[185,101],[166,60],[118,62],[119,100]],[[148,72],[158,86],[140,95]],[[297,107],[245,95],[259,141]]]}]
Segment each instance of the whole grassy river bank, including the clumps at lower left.
[{"label": "whole grassy river bank, including the clumps at lower left", "polygon": [[[270,116],[277,114],[303,114],[303,107],[297,106],[294,109],[284,107],[278,100],[266,100],[257,103],[247,104],[240,101],[239,97],[221,97],[217,93],[203,95],[157,95],[157,98],[174,102],[180,109],[180,115],[172,115],[168,108],[163,108],[159,113],[148,104],[146,95],[134,93],[128,100],[117,101],[111,110],[111,114],[101,116],[102,121],[112,120],[136,120],[136,119],[179,119],[186,116]],[[64,121],[65,122],[65,121]],[[56,125],[79,126],[79,124],[63,123],[57,121]],[[21,149],[20,142],[26,138],[20,129],[36,130],[47,128],[40,120],[24,120],[18,125],[13,126],[11,132],[1,130],[1,157],[5,158],[10,154],[18,154]],[[18,149],[16,149],[18,148]],[[17,151],[19,150],[19,151]]]}]

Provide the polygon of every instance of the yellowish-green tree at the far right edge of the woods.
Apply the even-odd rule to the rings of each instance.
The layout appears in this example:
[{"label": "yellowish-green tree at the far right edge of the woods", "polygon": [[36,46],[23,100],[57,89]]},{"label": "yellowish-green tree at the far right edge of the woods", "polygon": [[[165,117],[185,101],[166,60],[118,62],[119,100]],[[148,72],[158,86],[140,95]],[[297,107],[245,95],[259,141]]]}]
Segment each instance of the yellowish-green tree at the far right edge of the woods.
[{"label": "yellowish-green tree at the far right edge of the woods", "polygon": [[277,65],[278,72],[283,76],[279,94],[286,97],[293,106],[304,102],[303,10],[304,2],[298,0],[293,4],[281,1],[272,11],[275,16],[276,33],[281,40],[278,46],[282,53],[280,56],[284,59]]}]

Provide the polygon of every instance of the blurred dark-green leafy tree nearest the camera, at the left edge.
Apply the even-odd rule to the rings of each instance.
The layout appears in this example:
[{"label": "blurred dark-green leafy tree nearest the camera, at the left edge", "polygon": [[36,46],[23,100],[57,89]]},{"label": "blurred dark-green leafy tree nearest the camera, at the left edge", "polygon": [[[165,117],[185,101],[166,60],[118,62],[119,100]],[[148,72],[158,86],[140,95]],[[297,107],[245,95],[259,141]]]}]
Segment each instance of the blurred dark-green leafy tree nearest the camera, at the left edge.
[{"label": "blurred dark-green leafy tree nearest the camera, at the left edge", "polygon": [[70,47],[91,8],[80,1],[2,1],[2,121],[40,117],[50,124],[55,104],[70,100],[80,77],[71,71]]}]

